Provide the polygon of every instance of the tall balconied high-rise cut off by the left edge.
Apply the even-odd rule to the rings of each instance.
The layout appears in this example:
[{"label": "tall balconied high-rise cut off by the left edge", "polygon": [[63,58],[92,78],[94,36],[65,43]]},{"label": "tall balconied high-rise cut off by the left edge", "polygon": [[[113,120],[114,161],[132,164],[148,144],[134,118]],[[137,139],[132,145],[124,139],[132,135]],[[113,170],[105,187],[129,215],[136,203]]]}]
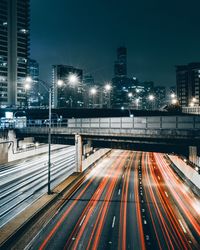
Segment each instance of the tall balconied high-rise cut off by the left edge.
[{"label": "tall balconied high-rise cut off by the left edge", "polygon": [[30,0],[0,1],[0,104],[25,102]]}]

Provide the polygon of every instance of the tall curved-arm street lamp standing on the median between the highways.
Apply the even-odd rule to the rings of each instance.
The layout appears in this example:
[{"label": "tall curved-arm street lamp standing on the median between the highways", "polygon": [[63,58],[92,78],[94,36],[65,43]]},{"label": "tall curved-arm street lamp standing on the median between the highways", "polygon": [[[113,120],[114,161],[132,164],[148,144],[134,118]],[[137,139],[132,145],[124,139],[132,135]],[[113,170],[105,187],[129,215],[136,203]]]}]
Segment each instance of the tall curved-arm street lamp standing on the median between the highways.
[{"label": "tall curved-arm street lamp standing on the median between the highways", "polygon": [[[47,181],[47,194],[51,194],[51,97],[52,85],[48,88],[45,81],[38,79],[42,86],[49,93],[49,127],[48,127],[48,181]],[[25,79],[25,86],[32,82],[30,77]]]}]

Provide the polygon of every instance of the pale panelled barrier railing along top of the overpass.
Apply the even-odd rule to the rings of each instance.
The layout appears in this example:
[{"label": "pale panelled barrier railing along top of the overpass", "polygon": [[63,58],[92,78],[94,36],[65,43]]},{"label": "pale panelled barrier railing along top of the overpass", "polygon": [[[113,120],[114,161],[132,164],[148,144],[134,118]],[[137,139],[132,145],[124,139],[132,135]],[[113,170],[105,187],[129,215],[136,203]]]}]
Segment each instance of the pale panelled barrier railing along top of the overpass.
[{"label": "pale panelled barrier railing along top of the overpass", "polygon": [[[154,116],[154,117],[112,117],[54,119],[52,127],[82,129],[197,129],[200,130],[200,116]],[[48,127],[48,120],[28,120],[27,127]]]}]

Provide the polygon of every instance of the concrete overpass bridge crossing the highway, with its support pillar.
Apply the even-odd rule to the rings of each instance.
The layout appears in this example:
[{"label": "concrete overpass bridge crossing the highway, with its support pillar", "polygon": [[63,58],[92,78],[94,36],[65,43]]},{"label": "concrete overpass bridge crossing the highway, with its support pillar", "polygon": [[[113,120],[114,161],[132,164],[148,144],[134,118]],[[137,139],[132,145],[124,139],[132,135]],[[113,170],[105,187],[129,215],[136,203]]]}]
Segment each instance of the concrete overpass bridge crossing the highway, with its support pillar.
[{"label": "concrete overpass bridge crossing the highway, with its support pillar", "polygon": [[[16,129],[16,137],[34,137],[47,142],[48,123],[30,120],[27,127]],[[53,143],[75,144],[77,168],[83,145],[183,154],[194,161],[200,155],[200,117],[142,116],[67,119],[53,122]],[[196,163],[196,162],[194,162]]]}]

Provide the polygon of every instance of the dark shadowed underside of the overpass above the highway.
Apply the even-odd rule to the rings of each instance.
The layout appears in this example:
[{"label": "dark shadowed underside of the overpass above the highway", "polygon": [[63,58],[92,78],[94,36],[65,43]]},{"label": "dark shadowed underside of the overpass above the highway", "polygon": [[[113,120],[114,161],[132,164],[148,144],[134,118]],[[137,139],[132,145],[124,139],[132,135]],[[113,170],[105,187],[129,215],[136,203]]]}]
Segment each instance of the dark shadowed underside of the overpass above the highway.
[{"label": "dark shadowed underside of the overpass above the highway", "polygon": [[[47,135],[32,135],[35,141],[48,143]],[[21,138],[26,137],[26,135]],[[105,136],[88,136],[82,135],[83,144],[91,141],[94,148],[113,148],[135,151],[175,153],[188,156],[188,146],[194,145],[194,141],[186,141],[184,139],[158,139],[158,138],[134,138],[134,137],[105,137]],[[54,144],[75,145],[74,135],[58,135],[52,134],[51,141]]]}]

